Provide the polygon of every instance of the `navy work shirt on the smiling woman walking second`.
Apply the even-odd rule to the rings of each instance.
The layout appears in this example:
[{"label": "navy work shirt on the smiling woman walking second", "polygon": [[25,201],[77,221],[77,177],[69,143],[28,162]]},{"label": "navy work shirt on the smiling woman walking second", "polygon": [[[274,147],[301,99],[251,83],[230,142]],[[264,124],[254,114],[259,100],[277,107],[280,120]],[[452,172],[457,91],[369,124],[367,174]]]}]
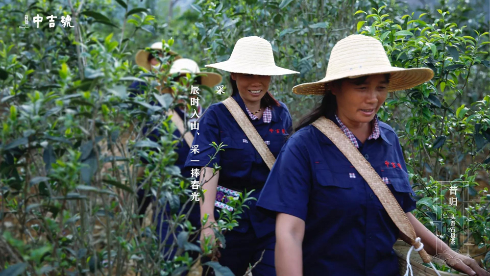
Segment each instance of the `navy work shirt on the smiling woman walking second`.
[{"label": "navy work shirt on the smiling woman walking second", "polygon": [[[236,93],[232,97],[250,119],[240,94]],[[279,103],[280,106],[271,106],[272,119],[270,123],[264,123],[264,116],[259,120],[250,119],[265,143],[269,144],[269,150],[274,157],[277,157],[293,128],[288,108],[284,103]],[[189,153],[185,169],[190,171],[191,168],[205,167],[210,160],[208,155],[213,156],[216,152],[210,144],[215,142],[220,145],[223,142],[224,145],[227,145],[223,147],[224,151],[219,151],[215,156],[216,159],[213,159],[208,165],[208,167],[213,167],[213,164],[217,163],[221,166],[218,185],[237,191],[243,191],[246,188],[248,192],[255,189],[250,196],[258,198],[270,173],[269,167],[226,106],[222,102],[210,105],[200,118],[199,124],[197,131],[199,134],[194,136],[193,142],[193,145],[198,145],[199,152]],[[192,162],[191,160],[199,161]],[[265,236],[274,231],[274,218],[257,211],[255,203],[256,201],[246,201],[250,210],[244,208],[244,213],[240,215],[241,219],[238,220],[239,226],[233,230],[246,232],[251,223],[257,237]],[[215,216],[216,214],[215,210]],[[216,219],[218,218],[216,217]]]}]

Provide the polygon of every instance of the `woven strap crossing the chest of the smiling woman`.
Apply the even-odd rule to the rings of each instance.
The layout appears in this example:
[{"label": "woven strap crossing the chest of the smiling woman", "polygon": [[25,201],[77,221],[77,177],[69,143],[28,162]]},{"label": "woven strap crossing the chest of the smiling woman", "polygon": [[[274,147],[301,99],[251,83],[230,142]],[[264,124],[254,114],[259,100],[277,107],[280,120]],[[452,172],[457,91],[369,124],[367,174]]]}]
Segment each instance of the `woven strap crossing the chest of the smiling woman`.
[{"label": "woven strap crossing the chest of the smiling woman", "polygon": [[269,170],[272,169],[272,165],[274,165],[275,162],[275,157],[274,155],[272,155],[272,152],[270,152],[269,148],[264,142],[264,139],[260,137],[259,133],[257,132],[257,129],[255,129],[252,123],[250,123],[250,120],[248,120],[248,117],[246,117],[243,109],[240,107],[240,105],[238,105],[235,99],[231,97],[229,97],[226,100],[223,100],[222,102],[224,106],[228,108],[233,118],[235,118],[235,121],[237,121],[238,125],[240,125],[242,130],[245,132],[245,135],[246,137],[248,137],[248,140],[252,142],[252,145],[254,146],[255,150],[257,150],[260,156],[262,156],[262,159],[264,159],[264,162],[266,162],[267,166],[269,167]]}]

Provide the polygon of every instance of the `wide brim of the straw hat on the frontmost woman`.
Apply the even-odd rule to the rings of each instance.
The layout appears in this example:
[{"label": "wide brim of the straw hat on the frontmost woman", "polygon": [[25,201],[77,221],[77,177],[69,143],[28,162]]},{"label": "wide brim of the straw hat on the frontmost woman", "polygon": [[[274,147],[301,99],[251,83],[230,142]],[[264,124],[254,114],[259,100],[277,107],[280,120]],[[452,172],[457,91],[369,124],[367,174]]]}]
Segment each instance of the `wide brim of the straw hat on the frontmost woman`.
[{"label": "wide brim of the straw hat on the frontmost woman", "polygon": [[398,67],[376,67],[346,71],[342,74],[327,75],[325,78],[316,82],[307,82],[293,87],[293,93],[299,95],[323,95],[329,92],[328,83],[341,78],[356,78],[366,75],[388,74],[390,73],[390,84],[388,92],[405,90],[422,84],[434,77],[434,71],[429,68],[398,68]]}]

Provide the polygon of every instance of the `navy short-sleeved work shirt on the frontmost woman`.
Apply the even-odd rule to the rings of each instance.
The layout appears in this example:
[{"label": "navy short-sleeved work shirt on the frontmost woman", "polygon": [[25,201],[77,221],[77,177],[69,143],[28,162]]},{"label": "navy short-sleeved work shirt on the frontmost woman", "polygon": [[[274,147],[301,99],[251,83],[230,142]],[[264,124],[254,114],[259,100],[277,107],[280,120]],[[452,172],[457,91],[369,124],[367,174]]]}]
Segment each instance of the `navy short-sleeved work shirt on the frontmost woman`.
[{"label": "navy short-sleeved work shirt on the frontmost woman", "polygon": [[[336,121],[335,117],[330,120]],[[358,149],[385,180],[404,212],[416,208],[398,137],[379,122],[380,135],[357,139]],[[362,145],[362,146],[361,146]],[[320,130],[308,125],[281,150],[257,202],[259,209],[305,221],[303,275],[399,275],[392,250],[399,237],[364,178]]]}]

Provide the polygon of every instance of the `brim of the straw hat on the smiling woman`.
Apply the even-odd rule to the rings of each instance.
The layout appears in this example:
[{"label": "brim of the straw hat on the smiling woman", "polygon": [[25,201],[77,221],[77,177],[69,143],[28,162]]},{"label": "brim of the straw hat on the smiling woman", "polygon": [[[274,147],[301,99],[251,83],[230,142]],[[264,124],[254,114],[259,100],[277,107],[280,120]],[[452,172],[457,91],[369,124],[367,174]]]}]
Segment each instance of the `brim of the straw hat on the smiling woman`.
[{"label": "brim of the straw hat on the smiling woman", "polygon": [[226,60],[223,62],[207,64],[205,67],[216,68],[231,73],[252,74],[252,75],[289,75],[299,74],[299,72],[282,68],[276,65],[257,65],[250,63],[240,63],[237,61]]}]

